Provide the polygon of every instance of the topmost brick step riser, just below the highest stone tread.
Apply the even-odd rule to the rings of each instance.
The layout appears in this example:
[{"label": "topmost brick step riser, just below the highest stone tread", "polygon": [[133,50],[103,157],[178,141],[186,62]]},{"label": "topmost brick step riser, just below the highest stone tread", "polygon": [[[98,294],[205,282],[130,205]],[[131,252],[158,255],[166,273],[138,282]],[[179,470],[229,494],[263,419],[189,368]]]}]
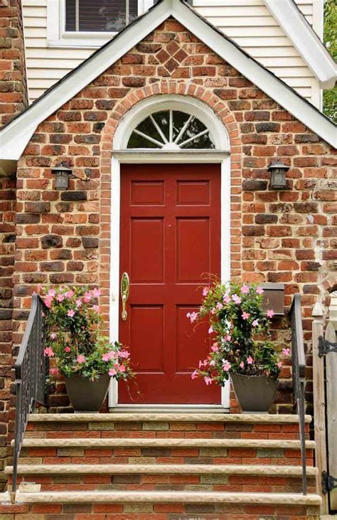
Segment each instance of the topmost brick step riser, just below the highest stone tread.
[{"label": "topmost brick step riser, just below the highest stone tread", "polygon": [[[29,423],[26,438],[214,438],[299,440],[296,423]],[[306,425],[309,439],[309,425]]]}]

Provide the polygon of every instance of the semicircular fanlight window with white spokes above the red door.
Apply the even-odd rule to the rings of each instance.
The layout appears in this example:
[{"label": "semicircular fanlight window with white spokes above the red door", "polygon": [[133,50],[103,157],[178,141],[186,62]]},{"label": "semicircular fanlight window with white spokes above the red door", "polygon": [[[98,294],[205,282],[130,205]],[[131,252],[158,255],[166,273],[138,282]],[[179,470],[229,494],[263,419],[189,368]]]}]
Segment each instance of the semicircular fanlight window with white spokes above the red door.
[{"label": "semicircular fanlight window with white spokes above the red door", "polygon": [[181,110],[160,110],[133,130],[128,149],[215,149],[210,129],[198,117]]}]

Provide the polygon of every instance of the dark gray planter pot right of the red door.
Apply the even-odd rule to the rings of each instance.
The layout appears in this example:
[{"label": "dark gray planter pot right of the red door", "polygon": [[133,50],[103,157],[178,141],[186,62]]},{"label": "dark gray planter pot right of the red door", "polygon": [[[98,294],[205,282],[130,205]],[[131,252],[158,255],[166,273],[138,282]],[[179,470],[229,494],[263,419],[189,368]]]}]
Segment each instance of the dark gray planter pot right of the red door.
[{"label": "dark gray planter pot right of the red door", "polygon": [[275,400],[278,381],[240,373],[231,373],[230,378],[242,413],[268,413]]}]

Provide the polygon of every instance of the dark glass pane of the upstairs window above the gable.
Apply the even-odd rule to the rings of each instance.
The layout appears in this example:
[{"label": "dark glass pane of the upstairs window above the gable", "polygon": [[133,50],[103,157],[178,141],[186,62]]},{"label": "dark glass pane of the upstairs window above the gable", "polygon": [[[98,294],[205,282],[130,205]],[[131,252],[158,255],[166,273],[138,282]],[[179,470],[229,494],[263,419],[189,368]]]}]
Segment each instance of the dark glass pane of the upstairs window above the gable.
[{"label": "dark glass pane of the upstairs window above the gable", "polygon": [[[76,31],[75,0],[65,2],[65,30]],[[117,32],[125,27],[125,0],[78,0],[79,31]],[[137,18],[137,0],[129,0],[129,20]]]}]

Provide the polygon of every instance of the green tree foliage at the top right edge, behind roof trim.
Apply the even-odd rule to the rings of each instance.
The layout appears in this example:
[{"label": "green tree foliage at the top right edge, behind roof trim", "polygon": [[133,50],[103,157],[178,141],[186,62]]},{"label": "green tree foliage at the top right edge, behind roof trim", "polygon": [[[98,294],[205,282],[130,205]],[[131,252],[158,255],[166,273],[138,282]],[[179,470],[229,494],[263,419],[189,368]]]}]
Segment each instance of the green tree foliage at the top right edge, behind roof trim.
[{"label": "green tree foliage at the top right edge, behind roof trim", "polygon": [[[324,5],[323,41],[334,60],[337,60],[337,3],[326,0]],[[323,92],[323,112],[337,123],[337,87]]]}]

